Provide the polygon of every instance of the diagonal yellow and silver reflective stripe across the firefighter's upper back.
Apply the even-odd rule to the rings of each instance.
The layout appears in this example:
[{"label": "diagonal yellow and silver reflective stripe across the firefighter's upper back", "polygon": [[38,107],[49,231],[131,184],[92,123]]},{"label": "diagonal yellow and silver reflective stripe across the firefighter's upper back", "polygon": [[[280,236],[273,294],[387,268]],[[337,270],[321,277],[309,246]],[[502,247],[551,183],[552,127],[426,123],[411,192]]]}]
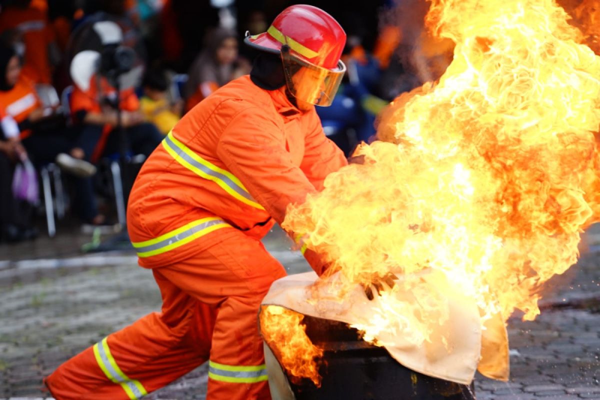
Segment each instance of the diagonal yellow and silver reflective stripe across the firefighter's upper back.
[{"label": "diagonal yellow and silver reflective stripe across the firefighter's upper back", "polygon": [[[215,166],[212,163],[209,163],[191,151],[190,148],[175,138],[173,131],[170,131],[167,137],[163,139],[162,144],[164,149],[171,155],[171,157],[175,158],[179,164],[191,172],[204,179],[209,179],[209,181],[215,182],[215,184],[219,185],[224,191],[239,201],[242,201],[243,203],[260,210],[265,209],[259,203],[254,201],[254,199],[252,199],[250,193],[248,193],[248,190],[244,187],[242,182],[236,178],[235,175],[229,171]],[[173,146],[175,148],[173,148]],[[183,156],[181,152],[183,152]],[[229,181],[229,183],[227,181]]]}]

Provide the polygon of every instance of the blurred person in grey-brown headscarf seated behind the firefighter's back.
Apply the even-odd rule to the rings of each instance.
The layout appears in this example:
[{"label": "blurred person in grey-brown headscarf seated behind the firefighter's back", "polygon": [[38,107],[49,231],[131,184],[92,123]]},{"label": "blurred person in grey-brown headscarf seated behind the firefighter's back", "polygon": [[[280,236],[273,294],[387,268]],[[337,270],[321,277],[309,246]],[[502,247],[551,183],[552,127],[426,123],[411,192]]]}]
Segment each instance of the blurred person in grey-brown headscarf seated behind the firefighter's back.
[{"label": "blurred person in grey-brown headscarf seated behind the firefighter's back", "polygon": [[207,35],[205,49],[194,60],[185,88],[185,110],[191,110],[209,94],[232,79],[250,73],[250,63],[238,58],[238,38],[229,29],[217,28]]}]

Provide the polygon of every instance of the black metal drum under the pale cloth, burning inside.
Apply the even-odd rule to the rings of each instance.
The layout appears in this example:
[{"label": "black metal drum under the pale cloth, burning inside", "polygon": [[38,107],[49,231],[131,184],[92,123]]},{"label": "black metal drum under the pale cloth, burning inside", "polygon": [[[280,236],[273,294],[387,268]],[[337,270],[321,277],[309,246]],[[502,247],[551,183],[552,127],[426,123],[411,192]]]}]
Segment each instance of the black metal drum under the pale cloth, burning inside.
[{"label": "black metal drum under the pale cloth, burning inside", "polygon": [[383,347],[363,341],[345,323],[304,316],[306,333],[322,348],[320,387],[308,378],[293,377],[281,367],[285,344],[265,342],[269,387],[274,400],[470,400],[472,386],[441,380],[412,371],[394,360]]}]

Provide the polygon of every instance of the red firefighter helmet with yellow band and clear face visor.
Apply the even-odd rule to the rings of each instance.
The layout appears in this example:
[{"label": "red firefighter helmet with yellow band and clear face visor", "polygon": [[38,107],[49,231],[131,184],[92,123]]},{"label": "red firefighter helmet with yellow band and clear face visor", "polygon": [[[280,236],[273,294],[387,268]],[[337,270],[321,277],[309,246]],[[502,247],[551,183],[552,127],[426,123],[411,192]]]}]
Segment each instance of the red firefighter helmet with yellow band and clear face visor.
[{"label": "red firefighter helmet with yellow band and clear face visor", "polygon": [[346,66],[340,60],[346,32],[332,16],[312,5],[283,10],[269,29],[247,36],[256,49],[281,53],[289,91],[299,100],[329,106]]}]

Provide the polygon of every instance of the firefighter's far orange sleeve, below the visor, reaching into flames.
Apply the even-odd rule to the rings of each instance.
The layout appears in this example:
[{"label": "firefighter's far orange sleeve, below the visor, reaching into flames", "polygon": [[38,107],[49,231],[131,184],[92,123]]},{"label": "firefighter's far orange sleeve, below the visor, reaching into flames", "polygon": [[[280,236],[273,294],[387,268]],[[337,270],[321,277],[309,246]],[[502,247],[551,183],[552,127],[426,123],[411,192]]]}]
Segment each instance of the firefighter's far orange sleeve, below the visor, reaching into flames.
[{"label": "firefighter's far orange sleeve, below the visor, reaching into flames", "polygon": [[300,169],[314,188],[321,191],[326,176],[347,164],[346,156],[325,136],[319,116],[313,112],[304,140],[304,158]]}]

